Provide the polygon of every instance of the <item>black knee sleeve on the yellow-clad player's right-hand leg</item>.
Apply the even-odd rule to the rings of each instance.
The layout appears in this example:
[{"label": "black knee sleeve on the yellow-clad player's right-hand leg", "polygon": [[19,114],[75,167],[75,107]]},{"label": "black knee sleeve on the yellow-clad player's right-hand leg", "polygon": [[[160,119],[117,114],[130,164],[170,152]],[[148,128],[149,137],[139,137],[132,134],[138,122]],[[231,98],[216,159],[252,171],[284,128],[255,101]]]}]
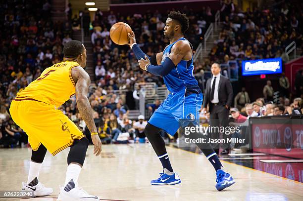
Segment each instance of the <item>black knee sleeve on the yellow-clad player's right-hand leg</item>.
[{"label": "black knee sleeve on the yellow-clad player's right-hand leg", "polygon": [[67,164],[76,162],[83,165],[88,145],[89,141],[86,137],[74,140],[74,144],[70,147],[68,153]]}]

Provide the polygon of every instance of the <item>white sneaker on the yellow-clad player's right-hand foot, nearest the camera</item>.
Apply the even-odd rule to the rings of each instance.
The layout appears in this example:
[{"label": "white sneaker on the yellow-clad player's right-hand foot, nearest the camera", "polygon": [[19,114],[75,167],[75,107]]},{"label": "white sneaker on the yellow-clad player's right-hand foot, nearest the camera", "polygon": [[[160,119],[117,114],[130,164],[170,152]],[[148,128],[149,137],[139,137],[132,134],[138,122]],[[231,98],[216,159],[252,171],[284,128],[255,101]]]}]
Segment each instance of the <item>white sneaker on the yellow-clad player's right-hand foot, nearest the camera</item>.
[{"label": "white sneaker on the yellow-clad player's right-hand foot, nearest the camera", "polygon": [[[82,188],[79,188],[77,185],[73,185],[73,189],[67,187],[60,187],[60,192],[58,195],[57,201],[99,201],[100,199],[97,196],[89,195]],[[66,191],[67,190],[67,191]]]}]

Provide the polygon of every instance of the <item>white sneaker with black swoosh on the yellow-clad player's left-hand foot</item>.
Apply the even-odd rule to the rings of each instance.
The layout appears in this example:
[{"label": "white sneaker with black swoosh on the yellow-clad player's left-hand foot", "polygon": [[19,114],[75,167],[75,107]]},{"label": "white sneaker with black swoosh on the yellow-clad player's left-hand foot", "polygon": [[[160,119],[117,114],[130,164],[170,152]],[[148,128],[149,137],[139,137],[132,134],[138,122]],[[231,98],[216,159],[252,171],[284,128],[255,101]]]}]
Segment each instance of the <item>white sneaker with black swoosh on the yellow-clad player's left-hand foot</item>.
[{"label": "white sneaker with black swoosh on the yellow-clad player's left-hand foot", "polygon": [[[36,185],[35,185],[36,184]],[[52,194],[52,188],[45,187],[41,182],[35,178],[31,183],[26,184],[22,182],[22,191],[34,191],[35,197],[48,196]]]}]

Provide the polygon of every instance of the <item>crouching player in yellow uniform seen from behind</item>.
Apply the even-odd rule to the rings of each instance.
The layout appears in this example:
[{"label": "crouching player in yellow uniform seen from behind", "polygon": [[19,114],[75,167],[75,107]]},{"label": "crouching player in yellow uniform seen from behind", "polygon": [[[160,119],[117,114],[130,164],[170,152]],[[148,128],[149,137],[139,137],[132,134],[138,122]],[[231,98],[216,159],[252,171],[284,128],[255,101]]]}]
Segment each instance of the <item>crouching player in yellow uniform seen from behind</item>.
[{"label": "crouching player in yellow uniform seen from behind", "polygon": [[85,72],[86,49],[78,40],[71,40],[63,48],[65,60],[47,68],[41,76],[17,93],[10,105],[13,119],[28,135],[32,157],[27,183],[22,190],[33,190],[35,196],[52,193],[39,182],[39,171],[47,150],[54,156],[70,147],[64,187],[60,189],[60,201],[99,201],[78,187],[78,177],[89,145],[88,139],[57,108],[72,95],[81,117],[91,131],[95,145],[94,154],[101,153],[101,141],[87,98],[90,77]]}]

